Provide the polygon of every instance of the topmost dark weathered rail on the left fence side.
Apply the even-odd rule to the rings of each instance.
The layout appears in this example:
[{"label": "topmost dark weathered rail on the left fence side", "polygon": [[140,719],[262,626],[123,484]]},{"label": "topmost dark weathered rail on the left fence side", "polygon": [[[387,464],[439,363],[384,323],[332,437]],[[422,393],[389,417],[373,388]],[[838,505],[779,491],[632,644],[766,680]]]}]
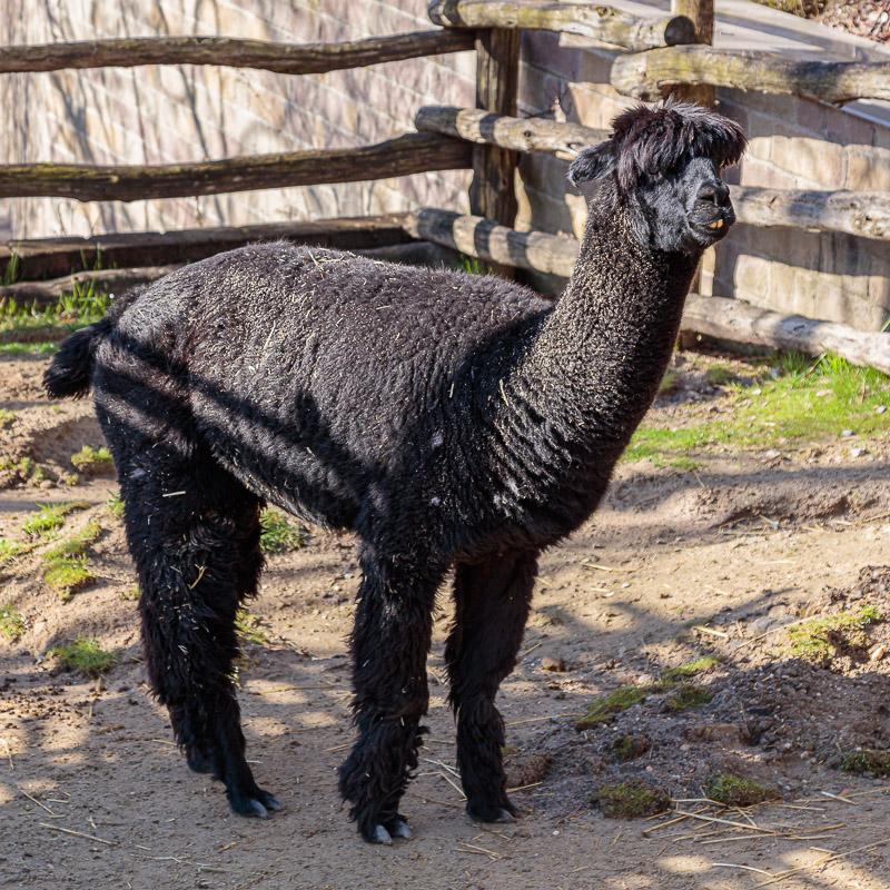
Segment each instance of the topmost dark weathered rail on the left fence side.
[{"label": "topmost dark weathered rail on the left fence side", "polygon": [[134,37],[0,48],[0,73],[141,65],[217,65],[281,75],[319,75],[343,68],[473,49],[474,34],[439,29],[344,43],[274,43],[231,37]]}]

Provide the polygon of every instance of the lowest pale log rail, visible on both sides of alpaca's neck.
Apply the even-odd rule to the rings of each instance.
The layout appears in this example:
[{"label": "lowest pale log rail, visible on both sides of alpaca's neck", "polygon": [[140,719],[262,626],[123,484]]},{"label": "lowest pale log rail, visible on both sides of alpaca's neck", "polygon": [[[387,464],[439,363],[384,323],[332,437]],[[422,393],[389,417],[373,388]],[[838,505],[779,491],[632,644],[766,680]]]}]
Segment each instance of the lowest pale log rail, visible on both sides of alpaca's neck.
[{"label": "lowest pale log rail, visible on both sides of alpaca's neck", "polygon": [[[482,217],[425,208],[411,214],[406,230],[468,256],[568,277],[578,241],[542,231],[516,231]],[[703,297],[686,300],[683,330],[720,339],[753,343],[773,349],[799,349],[810,355],[834,352],[857,365],[890,374],[890,334],[857,330],[848,325],[781,315],[740,299]]]}]

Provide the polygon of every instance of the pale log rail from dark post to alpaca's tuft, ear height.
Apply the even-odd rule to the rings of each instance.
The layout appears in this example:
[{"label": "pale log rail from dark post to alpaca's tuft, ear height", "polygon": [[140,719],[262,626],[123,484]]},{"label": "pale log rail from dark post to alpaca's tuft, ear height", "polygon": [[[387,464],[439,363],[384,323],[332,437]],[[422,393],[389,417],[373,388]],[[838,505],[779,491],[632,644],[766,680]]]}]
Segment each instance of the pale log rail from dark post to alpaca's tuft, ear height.
[{"label": "pale log rail from dark post to alpaca's tuft, ear height", "polygon": [[441,132],[514,151],[555,155],[562,160],[572,160],[582,148],[609,138],[609,130],[594,130],[581,123],[516,118],[452,106],[424,106],[414,118],[414,125],[422,132]]}]

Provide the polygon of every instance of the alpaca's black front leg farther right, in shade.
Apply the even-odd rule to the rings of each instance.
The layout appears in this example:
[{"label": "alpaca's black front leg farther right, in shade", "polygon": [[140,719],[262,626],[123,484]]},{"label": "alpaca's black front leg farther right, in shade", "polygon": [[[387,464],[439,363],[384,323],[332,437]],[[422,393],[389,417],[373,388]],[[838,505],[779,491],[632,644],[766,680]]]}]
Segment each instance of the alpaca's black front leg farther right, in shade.
[{"label": "alpaca's black front leg farther right, in shade", "polygon": [[516,814],[506,793],[504,721],[494,700],[516,664],[537,554],[497,554],[455,572],[454,627],[445,647],[449,700],[457,718],[457,765],[466,809],[481,822]]}]

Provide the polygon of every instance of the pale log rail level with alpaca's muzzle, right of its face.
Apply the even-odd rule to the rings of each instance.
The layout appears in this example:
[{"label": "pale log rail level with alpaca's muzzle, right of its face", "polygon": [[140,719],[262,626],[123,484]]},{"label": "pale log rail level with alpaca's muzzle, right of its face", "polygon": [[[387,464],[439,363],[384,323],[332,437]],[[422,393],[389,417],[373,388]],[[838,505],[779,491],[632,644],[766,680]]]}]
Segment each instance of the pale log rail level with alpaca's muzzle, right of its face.
[{"label": "pale log rail level with alpaca's muzzle, right of its face", "polygon": [[735,215],[751,226],[846,231],[890,240],[890,191],[798,191],[730,186]]}]

